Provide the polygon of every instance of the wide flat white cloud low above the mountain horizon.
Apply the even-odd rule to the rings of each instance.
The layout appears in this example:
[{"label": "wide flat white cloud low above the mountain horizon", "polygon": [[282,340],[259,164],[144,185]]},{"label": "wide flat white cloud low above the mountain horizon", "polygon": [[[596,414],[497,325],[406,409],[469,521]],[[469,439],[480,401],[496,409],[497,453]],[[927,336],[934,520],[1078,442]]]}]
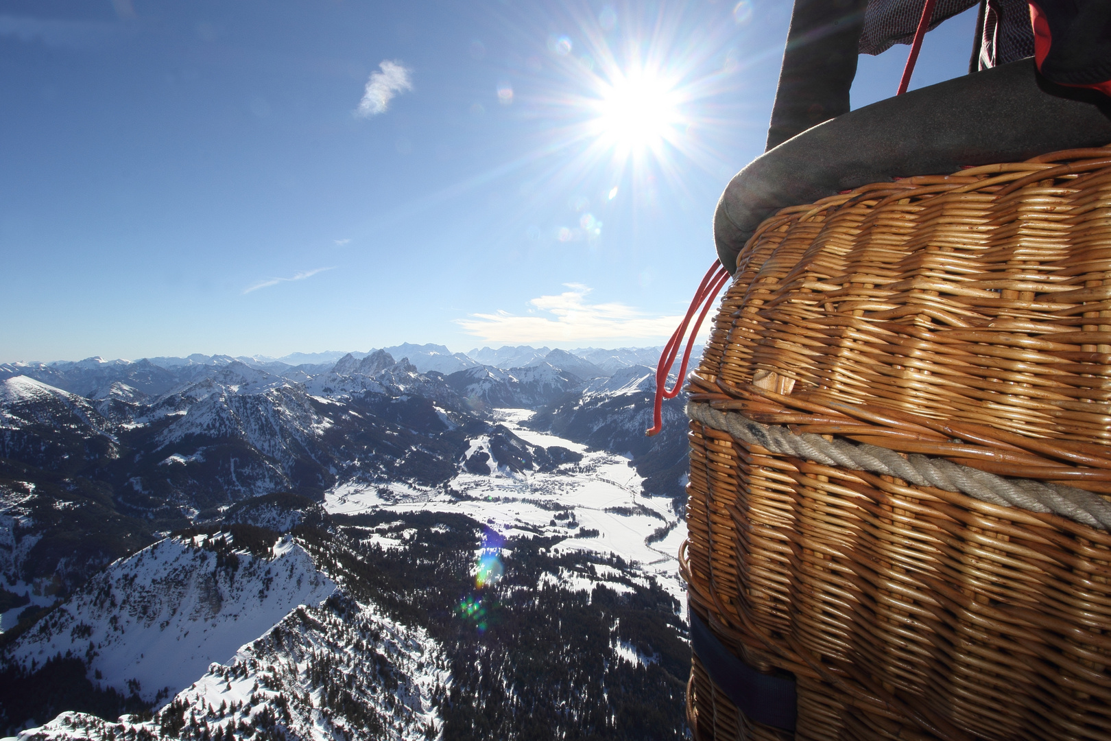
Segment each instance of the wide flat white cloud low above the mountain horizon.
[{"label": "wide flat white cloud low above the mountain horizon", "polygon": [[682,317],[647,317],[623,303],[590,303],[588,287],[564,283],[569,291],[541,296],[529,303],[529,316],[498,311],[457,319],[464,332],[487,342],[580,342],[593,340],[654,340],[669,337]]}]

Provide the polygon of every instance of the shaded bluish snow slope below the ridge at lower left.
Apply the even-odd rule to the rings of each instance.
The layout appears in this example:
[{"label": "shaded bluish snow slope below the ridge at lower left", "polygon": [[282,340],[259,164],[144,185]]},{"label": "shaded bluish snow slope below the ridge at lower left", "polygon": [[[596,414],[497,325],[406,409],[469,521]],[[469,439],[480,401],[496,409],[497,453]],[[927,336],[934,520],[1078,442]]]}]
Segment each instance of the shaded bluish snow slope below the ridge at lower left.
[{"label": "shaded bluish snow slope below the ridge at lower left", "polygon": [[30,669],[71,653],[121,692],[170,697],[336,589],[289,538],[269,558],[231,548],[203,535],[168,539],[117,561],[21,635],[8,658]]}]

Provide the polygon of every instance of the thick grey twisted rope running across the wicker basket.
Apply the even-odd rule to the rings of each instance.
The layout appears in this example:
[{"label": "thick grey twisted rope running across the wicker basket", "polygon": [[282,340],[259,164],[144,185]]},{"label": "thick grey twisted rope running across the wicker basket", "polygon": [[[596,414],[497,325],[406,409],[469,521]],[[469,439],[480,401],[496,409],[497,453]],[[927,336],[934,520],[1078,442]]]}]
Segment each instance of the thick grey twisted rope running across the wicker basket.
[{"label": "thick grey twisted rope running across the wicker basket", "polygon": [[787,453],[824,465],[893,475],[920,487],[955,491],[1002,507],[1052,512],[1092,528],[1111,530],[1111,503],[1082,489],[1030,479],[1004,479],[943,458],[918,453],[903,458],[887,448],[852,443],[839,438],[830,441],[820,434],[795,434],[785,427],[761,424],[739,412],[718,411],[705,403],[688,402],[687,415],[744,442],[762,445],[773,453]]}]

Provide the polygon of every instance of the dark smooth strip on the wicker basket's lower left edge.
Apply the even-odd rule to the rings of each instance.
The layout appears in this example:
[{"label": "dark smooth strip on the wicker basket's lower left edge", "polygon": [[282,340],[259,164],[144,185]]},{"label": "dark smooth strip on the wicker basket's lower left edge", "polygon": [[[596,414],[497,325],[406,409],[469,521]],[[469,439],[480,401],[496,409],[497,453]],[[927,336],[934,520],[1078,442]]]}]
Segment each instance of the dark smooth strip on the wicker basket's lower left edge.
[{"label": "dark smooth strip on the wicker basket's lower left edge", "polygon": [[693,611],[690,615],[691,648],[713,683],[750,720],[793,731],[798,714],[794,681],[761,674],[722,645]]}]

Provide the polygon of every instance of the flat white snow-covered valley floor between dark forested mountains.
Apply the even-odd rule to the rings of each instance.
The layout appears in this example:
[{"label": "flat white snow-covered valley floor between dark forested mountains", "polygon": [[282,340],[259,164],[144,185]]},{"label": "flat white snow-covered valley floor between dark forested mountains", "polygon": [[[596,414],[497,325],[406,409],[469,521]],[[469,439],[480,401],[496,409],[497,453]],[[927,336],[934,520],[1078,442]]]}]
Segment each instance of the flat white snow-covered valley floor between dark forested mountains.
[{"label": "flat white snow-covered valley floor between dark forested mountains", "polygon": [[641,495],[642,479],[621,455],[589,451],[570,440],[522,428],[521,422],[532,413],[497,410],[499,421],[527,442],[567,448],[581,453],[582,460],[550,473],[514,473],[504,467],[496,467],[490,475],[460,473],[450,485],[463,498],[404,483],[348,482],[327,493],[324,509],[343,514],[372,509],[459,512],[503,535],[570,535],[558,550],[615,553],[635,562],[638,571],[655,577],[683,602],[677,553],[687,538],[687,525],[671,511],[670,500]]}]

